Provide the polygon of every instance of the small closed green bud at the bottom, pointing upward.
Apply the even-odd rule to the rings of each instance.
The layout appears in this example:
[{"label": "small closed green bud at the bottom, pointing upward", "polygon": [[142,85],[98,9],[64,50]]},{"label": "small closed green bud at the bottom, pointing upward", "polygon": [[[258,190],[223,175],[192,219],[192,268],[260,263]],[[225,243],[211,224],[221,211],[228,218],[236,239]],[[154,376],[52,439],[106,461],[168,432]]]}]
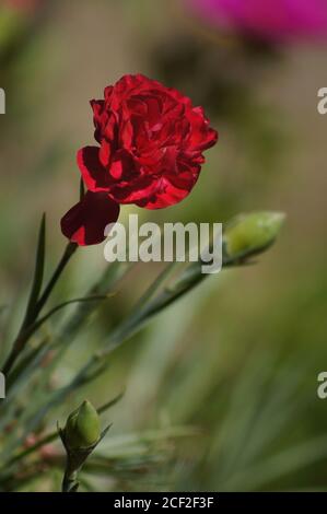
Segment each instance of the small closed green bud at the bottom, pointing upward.
[{"label": "small closed green bud at the bottom, pointing upward", "polygon": [[69,448],[89,448],[101,436],[100,418],[95,408],[85,400],[68,418],[65,427],[65,441]]}]

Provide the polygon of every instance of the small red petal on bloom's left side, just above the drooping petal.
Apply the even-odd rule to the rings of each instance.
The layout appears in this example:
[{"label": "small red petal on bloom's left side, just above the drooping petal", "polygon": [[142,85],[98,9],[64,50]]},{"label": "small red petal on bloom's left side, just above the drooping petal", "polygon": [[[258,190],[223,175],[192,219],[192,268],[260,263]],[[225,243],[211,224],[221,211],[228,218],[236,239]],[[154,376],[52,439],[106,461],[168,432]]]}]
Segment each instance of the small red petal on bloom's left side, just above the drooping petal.
[{"label": "small red petal on bloom's left side, just above the drooping petal", "polygon": [[78,152],[78,165],[87,189],[92,192],[108,189],[109,175],[100,162],[100,149],[85,147]]}]

